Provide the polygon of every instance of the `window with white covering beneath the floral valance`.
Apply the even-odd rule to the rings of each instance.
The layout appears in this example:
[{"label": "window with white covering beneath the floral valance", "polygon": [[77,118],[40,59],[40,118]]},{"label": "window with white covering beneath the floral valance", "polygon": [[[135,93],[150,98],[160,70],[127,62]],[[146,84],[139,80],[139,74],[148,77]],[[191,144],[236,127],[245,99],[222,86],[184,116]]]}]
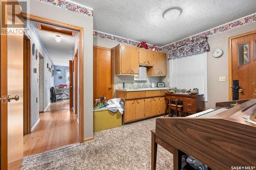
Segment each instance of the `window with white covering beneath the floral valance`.
[{"label": "window with white covering beneath the floral valance", "polygon": [[207,53],[198,53],[170,60],[170,86],[198,88],[207,102]]}]

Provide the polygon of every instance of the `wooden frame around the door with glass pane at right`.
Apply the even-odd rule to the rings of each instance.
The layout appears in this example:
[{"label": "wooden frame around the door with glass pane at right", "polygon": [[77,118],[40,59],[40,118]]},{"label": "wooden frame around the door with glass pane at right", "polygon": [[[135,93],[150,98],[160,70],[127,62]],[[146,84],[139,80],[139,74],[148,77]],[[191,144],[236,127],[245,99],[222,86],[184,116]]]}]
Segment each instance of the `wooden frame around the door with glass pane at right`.
[{"label": "wooden frame around the door with glass pane at right", "polygon": [[232,89],[229,88],[230,86],[232,86],[232,44],[231,44],[232,39],[247,36],[250,34],[255,34],[255,33],[256,33],[256,30],[228,38],[228,99],[229,101],[232,101]]}]

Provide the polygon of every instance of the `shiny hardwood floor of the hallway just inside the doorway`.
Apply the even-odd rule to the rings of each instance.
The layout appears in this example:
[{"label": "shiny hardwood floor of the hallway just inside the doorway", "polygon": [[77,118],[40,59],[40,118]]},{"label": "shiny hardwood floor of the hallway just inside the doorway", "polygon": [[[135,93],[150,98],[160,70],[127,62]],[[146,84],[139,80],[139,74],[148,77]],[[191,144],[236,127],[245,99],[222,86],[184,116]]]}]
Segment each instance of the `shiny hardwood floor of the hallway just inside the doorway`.
[{"label": "shiny hardwood floor of the hallway just inside the doorway", "polygon": [[39,114],[40,122],[24,136],[24,156],[79,142],[77,115],[73,109]]}]

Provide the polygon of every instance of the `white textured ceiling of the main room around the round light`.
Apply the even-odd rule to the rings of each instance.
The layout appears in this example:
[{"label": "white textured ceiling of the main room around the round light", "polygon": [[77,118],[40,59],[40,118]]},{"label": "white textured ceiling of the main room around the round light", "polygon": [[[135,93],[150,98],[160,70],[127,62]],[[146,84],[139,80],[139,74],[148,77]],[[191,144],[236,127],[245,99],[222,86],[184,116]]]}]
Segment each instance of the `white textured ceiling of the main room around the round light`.
[{"label": "white textured ceiling of the main room around the round light", "polygon": [[[93,8],[94,30],[163,46],[256,12],[256,0],[73,0]],[[182,8],[175,20],[163,12]]]}]

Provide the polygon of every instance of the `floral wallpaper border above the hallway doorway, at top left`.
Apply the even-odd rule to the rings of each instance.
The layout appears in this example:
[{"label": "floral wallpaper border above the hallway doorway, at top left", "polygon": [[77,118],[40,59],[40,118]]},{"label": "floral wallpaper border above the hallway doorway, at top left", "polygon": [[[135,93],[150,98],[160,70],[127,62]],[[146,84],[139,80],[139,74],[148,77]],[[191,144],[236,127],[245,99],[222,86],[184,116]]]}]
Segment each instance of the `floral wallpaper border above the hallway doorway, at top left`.
[{"label": "floral wallpaper border above the hallway doorway, at top left", "polygon": [[86,8],[80,6],[78,4],[74,4],[72,2],[68,2],[65,0],[36,0],[42,3],[46,3],[49,5],[56,6],[58,8],[66,9],[68,11],[76,12],[82,15],[93,17],[93,10],[90,8]]}]

